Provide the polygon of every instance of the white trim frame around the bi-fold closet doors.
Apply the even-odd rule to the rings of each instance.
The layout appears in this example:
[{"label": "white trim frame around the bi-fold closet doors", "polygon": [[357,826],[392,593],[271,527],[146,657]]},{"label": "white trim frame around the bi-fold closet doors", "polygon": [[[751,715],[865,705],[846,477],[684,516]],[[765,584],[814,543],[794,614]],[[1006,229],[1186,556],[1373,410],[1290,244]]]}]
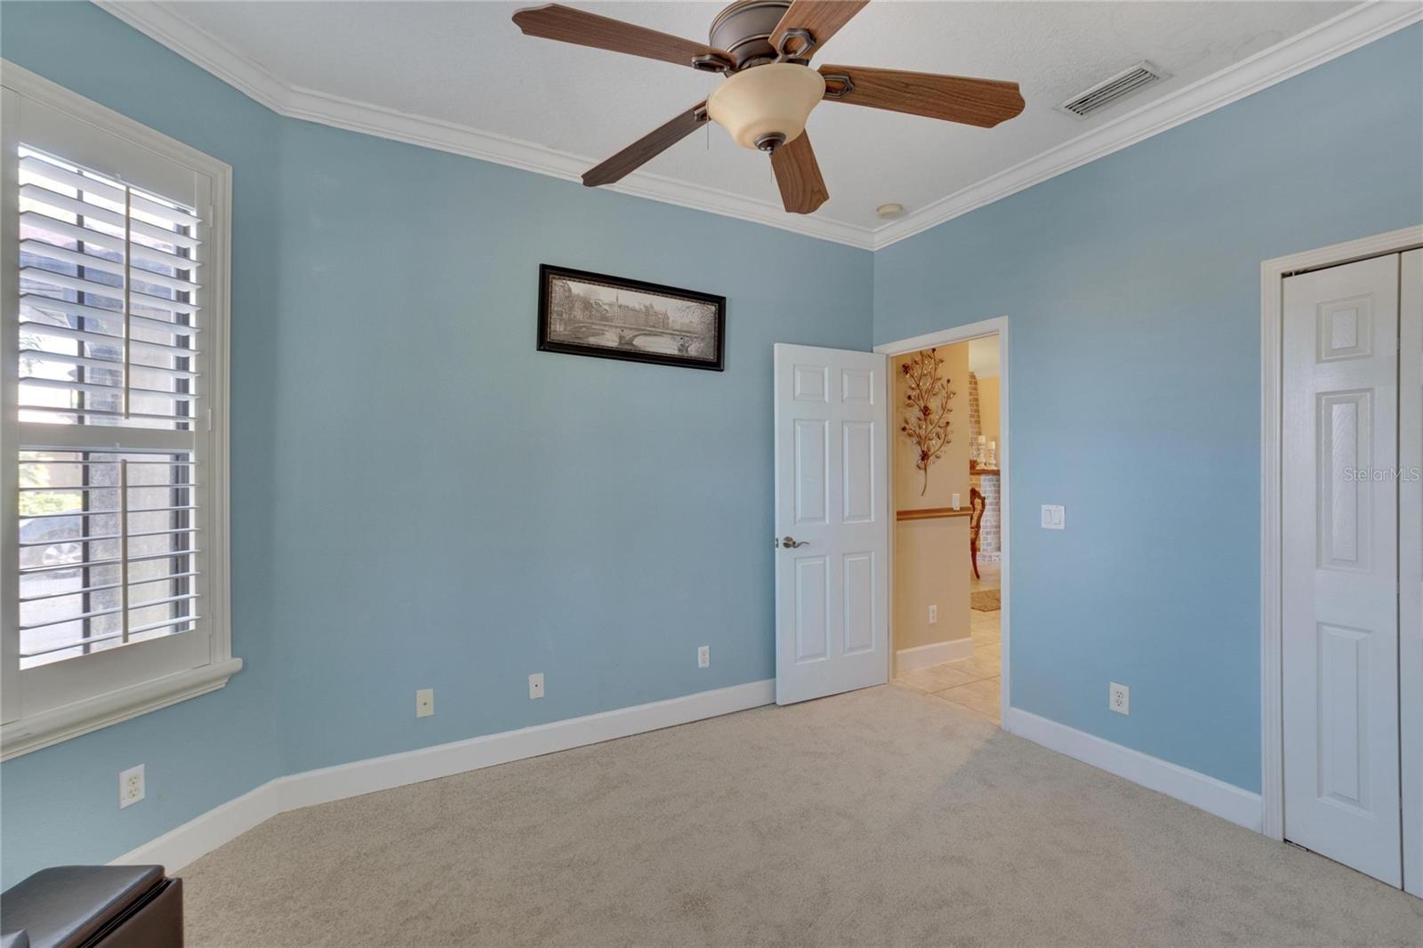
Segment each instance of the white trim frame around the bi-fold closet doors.
[{"label": "white trim frame around the bi-fold closet doors", "polygon": [[[1303,270],[1323,266],[1338,266],[1370,256],[1399,253],[1423,246],[1423,226],[1403,228],[1389,233],[1335,243],[1316,251],[1305,251],[1265,260],[1259,265],[1261,280],[1261,389],[1259,389],[1259,441],[1261,441],[1261,505],[1259,505],[1259,575],[1261,575],[1261,800],[1264,806],[1261,831],[1275,840],[1285,838],[1285,747],[1284,747],[1284,673],[1281,604],[1284,595],[1281,578],[1281,424],[1284,411],[1284,279]],[[1407,649],[1407,631],[1399,629],[1400,648]],[[1423,693],[1423,668],[1419,662],[1400,662],[1400,699],[1413,696],[1414,702],[1400,700],[1400,710],[1416,707],[1416,696]],[[1417,715],[1414,713],[1413,717]],[[1400,720],[1403,743],[1417,742],[1423,736],[1423,720],[1412,717]],[[1405,764],[1407,762],[1405,760]],[[1405,800],[1409,793],[1417,797],[1420,787],[1417,774],[1405,770]],[[1405,806],[1403,834],[1405,851],[1417,853],[1423,846],[1423,826],[1417,813],[1409,813]],[[1417,837],[1417,838],[1416,838]],[[1423,895],[1423,867],[1405,865],[1407,888],[1414,895]]]}]

